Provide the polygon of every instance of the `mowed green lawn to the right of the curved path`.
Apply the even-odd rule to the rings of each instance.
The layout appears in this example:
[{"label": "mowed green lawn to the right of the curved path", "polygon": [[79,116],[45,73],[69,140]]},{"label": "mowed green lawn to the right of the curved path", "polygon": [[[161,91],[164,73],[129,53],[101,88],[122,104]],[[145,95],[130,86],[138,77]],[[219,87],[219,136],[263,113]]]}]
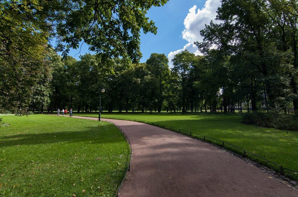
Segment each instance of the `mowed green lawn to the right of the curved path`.
[{"label": "mowed green lawn to the right of the curved path", "polygon": [[[86,115],[98,116],[97,114]],[[298,171],[298,132],[295,131],[289,131],[287,134],[285,130],[246,125],[241,123],[242,117],[234,115],[103,113],[101,116],[146,120],[196,132],[228,142],[283,167]],[[225,146],[228,147],[226,144]],[[270,166],[270,163],[268,165]],[[285,173],[289,174],[289,171]]]}]

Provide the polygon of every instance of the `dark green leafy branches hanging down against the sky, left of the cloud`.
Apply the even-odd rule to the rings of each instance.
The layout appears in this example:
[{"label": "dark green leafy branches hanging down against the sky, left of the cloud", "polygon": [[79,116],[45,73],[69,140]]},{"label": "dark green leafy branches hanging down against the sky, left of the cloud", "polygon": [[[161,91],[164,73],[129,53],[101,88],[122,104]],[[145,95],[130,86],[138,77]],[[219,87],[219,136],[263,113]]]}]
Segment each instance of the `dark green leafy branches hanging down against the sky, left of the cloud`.
[{"label": "dark green leafy branches hanging down against the sky, left of the cloud", "polygon": [[[65,52],[77,48],[83,39],[90,50],[99,53],[103,60],[130,57],[134,63],[141,57],[140,31],[156,34],[154,22],[145,16],[152,6],[162,6],[168,0],[117,0],[117,1],[57,1],[60,14],[51,18],[56,22],[57,34],[67,45]],[[52,3],[49,3],[50,5]]]}]

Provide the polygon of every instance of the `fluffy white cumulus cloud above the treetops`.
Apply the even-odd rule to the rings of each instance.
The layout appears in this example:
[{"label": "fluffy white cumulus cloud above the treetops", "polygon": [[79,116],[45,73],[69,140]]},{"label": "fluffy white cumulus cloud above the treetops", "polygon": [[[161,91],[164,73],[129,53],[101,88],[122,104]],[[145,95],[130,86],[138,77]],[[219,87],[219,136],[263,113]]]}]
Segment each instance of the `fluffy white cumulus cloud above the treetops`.
[{"label": "fluffy white cumulus cloud above the treetops", "polygon": [[168,54],[169,66],[172,68],[173,63],[172,59],[174,55],[181,53],[184,50],[188,50],[195,55],[201,55],[198,51],[198,48],[193,44],[193,42],[201,42],[203,38],[200,35],[200,31],[205,28],[205,24],[209,24],[211,20],[215,23],[216,10],[221,6],[220,0],[207,0],[202,9],[194,5],[189,9],[189,13],[184,19],[184,30],[182,31],[182,38],[185,39],[188,43],[183,47],[183,49],[170,52]]}]

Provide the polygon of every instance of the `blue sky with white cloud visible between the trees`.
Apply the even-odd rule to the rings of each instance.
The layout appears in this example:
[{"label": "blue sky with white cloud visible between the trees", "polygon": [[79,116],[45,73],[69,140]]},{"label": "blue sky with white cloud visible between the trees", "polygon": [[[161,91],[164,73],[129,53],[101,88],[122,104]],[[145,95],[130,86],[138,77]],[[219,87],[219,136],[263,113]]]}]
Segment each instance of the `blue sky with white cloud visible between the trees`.
[{"label": "blue sky with white cloud visible between the trees", "polygon": [[[146,62],[151,53],[164,53],[171,67],[170,60],[185,49],[200,54],[193,42],[201,41],[199,31],[215,19],[219,6],[220,0],[170,0],[163,7],[152,7],[146,16],[155,22],[157,34],[141,33],[140,62]],[[89,53],[88,45],[83,44],[69,55],[79,59],[85,53]]]}]

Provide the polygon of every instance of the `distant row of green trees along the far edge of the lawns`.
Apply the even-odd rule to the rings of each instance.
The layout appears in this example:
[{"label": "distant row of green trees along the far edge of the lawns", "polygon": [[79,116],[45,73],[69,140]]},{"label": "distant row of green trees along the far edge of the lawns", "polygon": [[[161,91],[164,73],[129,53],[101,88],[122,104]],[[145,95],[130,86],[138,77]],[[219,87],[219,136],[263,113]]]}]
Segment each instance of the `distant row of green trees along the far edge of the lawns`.
[{"label": "distant row of green trees along the far edge of the lawns", "polygon": [[34,111],[38,104],[48,112],[58,108],[98,111],[104,88],[101,110],[108,112],[234,112],[235,104],[241,109],[250,92],[221,86],[218,79],[229,73],[221,67],[229,65],[229,58],[213,52],[203,57],[186,50],[175,55],[171,69],[164,54],[152,53],[146,63],[136,64],[114,58],[112,72],[101,66],[98,55],[85,54],[76,61],[72,57],[61,60],[52,53],[51,80],[47,88],[43,84],[36,88],[39,96],[30,107]]}]

